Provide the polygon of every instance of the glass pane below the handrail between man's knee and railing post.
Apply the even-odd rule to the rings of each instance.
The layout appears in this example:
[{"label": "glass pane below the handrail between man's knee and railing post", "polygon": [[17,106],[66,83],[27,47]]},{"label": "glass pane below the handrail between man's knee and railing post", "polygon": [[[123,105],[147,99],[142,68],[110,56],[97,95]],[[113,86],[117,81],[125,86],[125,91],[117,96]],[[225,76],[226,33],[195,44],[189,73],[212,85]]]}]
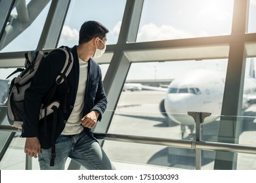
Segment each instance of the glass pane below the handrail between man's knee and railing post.
[{"label": "glass pane below the handrail between man's knee and railing post", "polygon": [[[181,155],[181,150],[181,148],[169,148],[168,146],[156,146],[152,144],[104,142],[104,151],[106,154],[115,163],[127,163],[125,167],[120,167],[126,170],[194,169],[194,157],[186,156],[184,158]],[[173,151],[172,154],[169,153],[170,151]],[[187,151],[194,152],[194,150]]]}]

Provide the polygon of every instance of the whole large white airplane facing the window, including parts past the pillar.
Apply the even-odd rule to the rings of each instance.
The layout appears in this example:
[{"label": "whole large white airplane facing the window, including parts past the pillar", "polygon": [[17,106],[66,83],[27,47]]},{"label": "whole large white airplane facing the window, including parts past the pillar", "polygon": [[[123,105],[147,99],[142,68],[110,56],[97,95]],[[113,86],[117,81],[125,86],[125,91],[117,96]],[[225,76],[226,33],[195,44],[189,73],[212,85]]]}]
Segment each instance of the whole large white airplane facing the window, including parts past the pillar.
[{"label": "whole large white airplane facing the window, including parts past the pillar", "polygon": [[[251,61],[251,68],[253,68],[253,61]],[[183,139],[186,126],[190,129],[190,134],[195,127],[194,118],[188,116],[187,112],[211,112],[211,116],[205,118],[204,124],[220,118],[224,84],[224,73],[198,69],[175,78],[168,88],[142,86],[142,90],[166,92],[165,98],[160,103],[160,111],[168,122],[181,124]],[[245,110],[255,102],[256,79],[254,69],[251,69],[249,77],[245,77],[242,109]]]}]

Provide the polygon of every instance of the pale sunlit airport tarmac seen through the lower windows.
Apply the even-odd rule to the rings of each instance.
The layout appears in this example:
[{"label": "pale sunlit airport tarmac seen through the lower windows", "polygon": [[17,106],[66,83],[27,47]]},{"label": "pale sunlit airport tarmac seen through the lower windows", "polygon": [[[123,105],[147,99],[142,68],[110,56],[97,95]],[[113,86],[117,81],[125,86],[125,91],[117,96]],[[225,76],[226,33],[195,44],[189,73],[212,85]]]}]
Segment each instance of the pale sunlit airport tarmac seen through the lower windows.
[{"label": "pale sunlit airport tarmac seen through the lower windows", "polygon": [[[123,92],[108,133],[181,139],[181,125],[168,122],[160,112],[159,105],[164,97],[163,92]],[[256,107],[248,109],[246,114],[251,115],[252,111],[256,111]],[[216,141],[218,124],[213,122],[203,126],[203,138]],[[191,138],[189,130],[186,131],[186,138]],[[25,139],[19,138],[18,134],[16,136],[1,160],[1,170],[25,169]],[[244,125],[239,142],[256,146],[256,123],[253,120]],[[195,169],[194,150],[116,141],[105,141],[103,148],[116,169],[120,170]],[[203,151],[202,169],[212,170],[214,158],[215,152]],[[32,169],[39,169],[37,159],[32,159]],[[66,167],[69,163],[70,159]],[[237,169],[255,170],[256,155],[238,154]]]}]

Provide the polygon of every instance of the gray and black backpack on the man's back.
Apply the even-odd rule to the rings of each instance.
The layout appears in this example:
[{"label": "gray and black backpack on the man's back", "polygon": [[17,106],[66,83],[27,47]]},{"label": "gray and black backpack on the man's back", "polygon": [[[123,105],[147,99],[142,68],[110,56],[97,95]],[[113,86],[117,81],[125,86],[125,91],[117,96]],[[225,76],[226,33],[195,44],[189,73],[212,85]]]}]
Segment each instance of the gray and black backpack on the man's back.
[{"label": "gray and black backpack on the man's back", "polygon": [[[66,76],[70,73],[73,65],[73,56],[70,52],[70,48],[66,46],[61,46],[54,50],[62,50],[66,54],[66,61],[60,75],[56,78],[56,84],[51,88],[51,91],[47,94],[47,97],[44,101],[45,104],[41,107],[41,114],[39,115],[40,120],[45,116],[53,113],[53,108],[59,107],[58,101],[51,101],[56,88],[60,83],[64,81]],[[25,54],[25,68],[18,68],[10,76],[15,73],[21,72],[20,75],[16,76],[11,81],[11,86],[9,88],[9,97],[7,101],[7,116],[9,123],[18,129],[22,129],[23,125],[23,116],[24,116],[24,93],[26,89],[30,87],[30,82],[35,75],[39,64],[43,59],[47,57],[48,53],[43,53],[42,51],[31,51]]]}]

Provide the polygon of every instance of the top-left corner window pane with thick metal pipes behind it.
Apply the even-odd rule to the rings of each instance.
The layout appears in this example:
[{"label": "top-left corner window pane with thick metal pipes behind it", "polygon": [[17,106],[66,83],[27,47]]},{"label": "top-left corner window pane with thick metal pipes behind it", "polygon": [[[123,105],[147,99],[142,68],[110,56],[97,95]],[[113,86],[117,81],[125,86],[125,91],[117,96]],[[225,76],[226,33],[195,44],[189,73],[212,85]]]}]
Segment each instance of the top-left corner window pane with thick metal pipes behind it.
[{"label": "top-left corner window pane with thick metal pipes behind it", "polygon": [[12,9],[0,42],[0,52],[18,52],[37,48],[51,1],[49,3],[40,1],[37,5],[33,1],[26,1],[26,4],[14,4],[16,7]]}]

